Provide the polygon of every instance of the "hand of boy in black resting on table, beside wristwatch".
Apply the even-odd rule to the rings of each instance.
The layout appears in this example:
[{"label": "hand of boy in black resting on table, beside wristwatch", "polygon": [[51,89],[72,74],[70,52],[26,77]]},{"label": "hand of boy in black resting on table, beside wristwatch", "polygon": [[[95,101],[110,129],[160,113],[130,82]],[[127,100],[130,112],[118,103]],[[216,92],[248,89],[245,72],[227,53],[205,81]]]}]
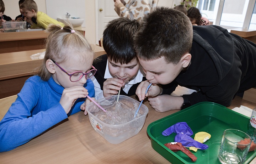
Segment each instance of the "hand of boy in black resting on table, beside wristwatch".
[{"label": "hand of boy in black resting on table, beside wristwatch", "polygon": [[167,112],[180,109],[183,98],[181,96],[158,95],[156,97],[148,97],[148,101],[157,112]]}]

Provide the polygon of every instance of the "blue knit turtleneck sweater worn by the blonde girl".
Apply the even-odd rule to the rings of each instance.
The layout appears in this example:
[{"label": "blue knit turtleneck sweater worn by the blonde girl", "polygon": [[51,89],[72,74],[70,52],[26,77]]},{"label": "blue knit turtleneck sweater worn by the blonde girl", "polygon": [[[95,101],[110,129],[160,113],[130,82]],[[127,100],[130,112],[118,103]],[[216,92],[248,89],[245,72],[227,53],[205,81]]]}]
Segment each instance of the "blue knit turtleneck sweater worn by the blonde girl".
[{"label": "blue knit turtleneck sweater worn by the blonde girl", "polygon": [[[84,87],[94,97],[94,84],[87,80]],[[17,99],[0,122],[0,152],[14,149],[38,136],[53,125],[81,111],[85,98],[79,98],[66,114],[59,103],[64,87],[51,77],[43,81],[38,76],[26,80]]]}]

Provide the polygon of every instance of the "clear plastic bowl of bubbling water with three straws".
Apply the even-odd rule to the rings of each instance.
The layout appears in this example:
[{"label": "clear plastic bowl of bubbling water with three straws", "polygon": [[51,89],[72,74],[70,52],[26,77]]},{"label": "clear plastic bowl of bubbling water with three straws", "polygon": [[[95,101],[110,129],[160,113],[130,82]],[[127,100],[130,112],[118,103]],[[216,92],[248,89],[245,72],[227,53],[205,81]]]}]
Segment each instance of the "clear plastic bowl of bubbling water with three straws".
[{"label": "clear plastic bowl of bubbling water with three straws", "polygon": [[[114,95],[114,96],[108,96],[100,100],[97,100],[97,102],[100,104],[101,107],[103,107],[107,111],[106,114],[108,114],[108,111],[110,112],[112,109],[115,109],[114,104],[116,100],[117,100],[117,95]],[[130,98],[128,96],[123,96],[123,95],[119,96],[118,102],[129,107],[130,108],[129,110],[132,111],[132,113],[135,113],[137,111],[138,106],[140,104],[140,102],[134,100],[133,98]],[[146,120],[146,115],[148,114],[148,107],[142,104],[137,114],[137,117],[135,119],[132,118],[132,120],[126,123],[112,125],[112,124],[105,123],[106,121],[103,122],[100,118],[97,118],[95,116],[96,113],[103,112],[100,108],[98,108],[96,112],[92,112],[92,109],[93,108],[95,109],[95,107],[96,106],[93,102],[88,104],[88,106],[86,107],[86,111],[88,112],[88,116],[89,116],[89,120],[92,125],[92,128],[94,128],[94,130],[99,135],[105,138],[105,140],[113,144],[121,143],[127,140],[128,138],[138,134],[142,129]],[[121,108],[121,110],[127,110],[127,109]],[[126,113],[126,111],[123,111],[123,112],[124,114]]]}]

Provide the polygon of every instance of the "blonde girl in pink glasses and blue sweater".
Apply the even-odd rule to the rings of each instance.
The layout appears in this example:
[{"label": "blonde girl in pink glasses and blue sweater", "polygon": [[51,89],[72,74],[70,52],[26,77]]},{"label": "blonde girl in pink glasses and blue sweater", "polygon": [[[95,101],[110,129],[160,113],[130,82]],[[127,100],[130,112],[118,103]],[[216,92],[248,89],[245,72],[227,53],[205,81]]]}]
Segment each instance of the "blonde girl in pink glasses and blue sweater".
[{"label": "blonde girl in pink glasses and blue sweater", "polygon": [[[94,97],[90,79],[94,52],[71,25],[51,25],[38,75],[26,80],[0,122],[0,152],[14,149],[81,111],[86,95]],[[87,102],[90,102],[86,99]]]}]

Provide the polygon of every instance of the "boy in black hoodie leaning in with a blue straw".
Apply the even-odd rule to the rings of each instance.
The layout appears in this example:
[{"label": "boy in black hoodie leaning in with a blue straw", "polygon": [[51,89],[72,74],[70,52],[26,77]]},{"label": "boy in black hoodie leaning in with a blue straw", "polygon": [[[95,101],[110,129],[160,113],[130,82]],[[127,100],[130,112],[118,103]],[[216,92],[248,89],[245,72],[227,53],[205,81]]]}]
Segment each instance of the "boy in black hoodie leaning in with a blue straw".
[{"label": "boy in black hoodie leaning in with a blue straw", "polygon": [[[256,44],[222,27],[192,26],[184,13],[161,7],[142,19],[134,38],[148,79],[136,94],[144,100],[146,87],[153,83],[146,96],[156,96],[148,100],[158,112],[203,101],[230,106],[236,94],[256,86]],[[155,84],[173,81],[197,92],[158,96]]]}]

